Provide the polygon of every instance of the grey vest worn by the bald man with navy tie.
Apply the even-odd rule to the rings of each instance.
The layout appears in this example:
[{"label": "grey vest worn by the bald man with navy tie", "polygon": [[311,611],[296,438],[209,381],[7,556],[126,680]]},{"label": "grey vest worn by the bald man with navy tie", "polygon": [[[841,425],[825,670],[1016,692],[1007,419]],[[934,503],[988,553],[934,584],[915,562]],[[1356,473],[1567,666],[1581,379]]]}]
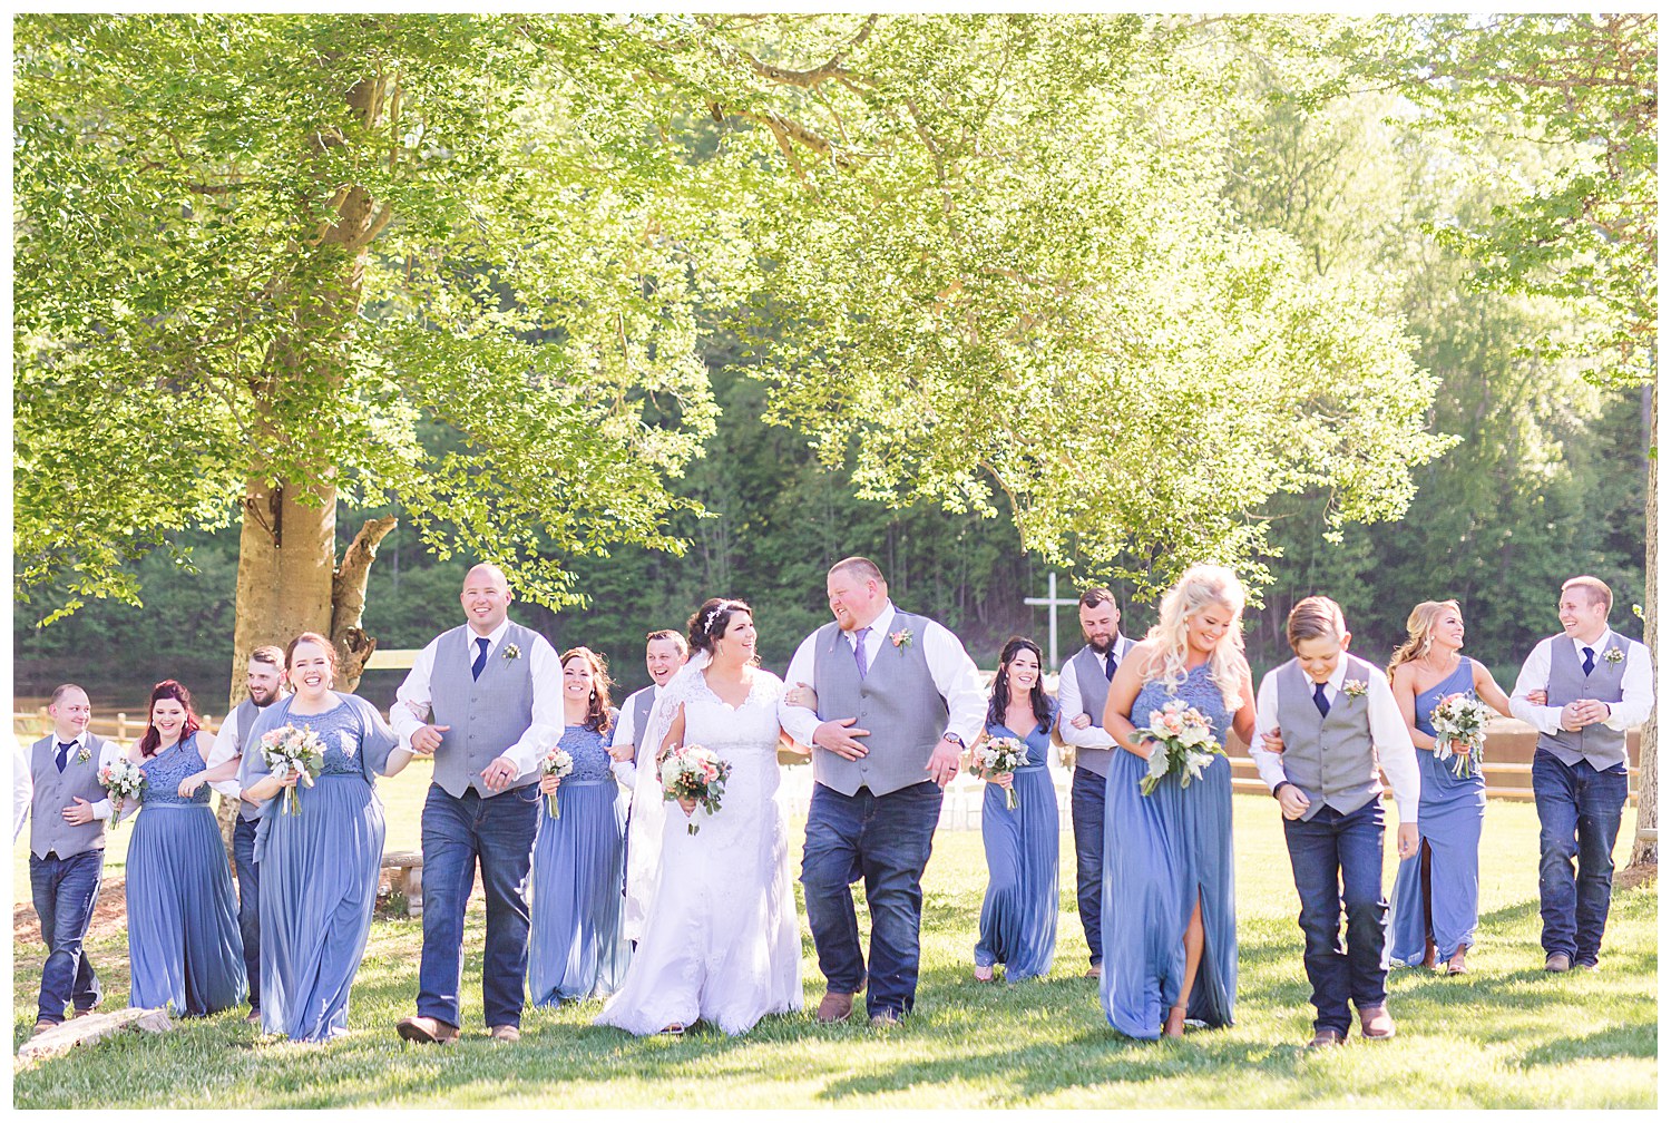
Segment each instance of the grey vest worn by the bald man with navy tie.
[{"label": "grey vest worn by the bald man with navy tie", "polygon": [[[538,632],[511,623],[500,645],[488,650],[481,678],[471,678],[476,633],[468,625],[441,633],[429,670],[429,720],[451,725],[434,750],[434,782],[453,799],[471,787],[483,799],[503,794],[488,790],[481,770],[521,740],[533,724],[533,645],[538,638]],[[505,658],[511,643],[520,658]],[[528,784],[538,774],[535,765],[503,790]]]}]

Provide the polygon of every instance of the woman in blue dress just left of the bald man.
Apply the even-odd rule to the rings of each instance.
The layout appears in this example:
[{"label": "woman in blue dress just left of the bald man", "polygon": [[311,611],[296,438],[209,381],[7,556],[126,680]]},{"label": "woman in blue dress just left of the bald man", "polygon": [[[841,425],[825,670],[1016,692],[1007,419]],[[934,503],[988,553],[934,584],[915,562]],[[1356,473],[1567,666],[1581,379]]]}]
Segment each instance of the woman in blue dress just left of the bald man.
[{"label": "woman in blue dress just left of the bald man", "polygon": [[[284,657],[294,694],[264,709],[249,730],[246,795],[262,802],[256,834],[261,862],[261,1028],[291,1041],[348,1033],[348,998],[366,954],[383,866],[383,804],[374,777],[399,772],[411,752],[364,699],[338,694],[336,647],[314,632],[291,640]],[[312,784],[272,775],[261,737],[309,727],[324,742]],[[289,792],[299,810],[284,810]]]}]

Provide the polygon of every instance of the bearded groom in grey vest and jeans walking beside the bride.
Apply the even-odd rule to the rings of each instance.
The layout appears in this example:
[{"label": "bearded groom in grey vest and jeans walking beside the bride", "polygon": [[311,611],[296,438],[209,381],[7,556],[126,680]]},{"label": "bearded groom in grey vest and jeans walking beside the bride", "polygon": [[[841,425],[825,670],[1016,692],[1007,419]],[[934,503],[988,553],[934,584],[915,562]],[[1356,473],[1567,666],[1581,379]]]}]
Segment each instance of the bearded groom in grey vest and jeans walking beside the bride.
[{"label": "bearded groom in grey vest and jeans walking beside the bride", "polygon": [[[812,745],[800,884],[827,979],[817,1018],[844,1021],[866,989],[871,1024],[891,1026],[916,1001],[922,869],[942,789],[981,732],[986,692],[957,637],[894,608],[869,558],[837,562],[827,593],[836,622],[802,640],[787,675],[814,687],[817,712],[779,705],[789,735]],[[869,971],[849,887],[859,877],[871,909]]]}]

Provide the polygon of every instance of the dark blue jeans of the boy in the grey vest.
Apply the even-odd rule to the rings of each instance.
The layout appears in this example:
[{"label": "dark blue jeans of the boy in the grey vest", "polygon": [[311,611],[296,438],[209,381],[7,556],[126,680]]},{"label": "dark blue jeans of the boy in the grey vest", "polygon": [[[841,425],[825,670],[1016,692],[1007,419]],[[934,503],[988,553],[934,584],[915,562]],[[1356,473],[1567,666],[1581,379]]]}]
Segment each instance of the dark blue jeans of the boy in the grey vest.
[{"label": "dark blue jeans of the boy in the grey vest", "polygon": [[[1283,819],[1293,887],[1300,892],[1305,978],[1315,1029],[1352,1026],[1347,999],[1364,1013],[1387,1001],[1387,897],[1380,892],[1384,812],[1370,799],[1348,816],[1327,804],[1310,819]],[[1340,946],[1340,911],[1347,941]]]}]

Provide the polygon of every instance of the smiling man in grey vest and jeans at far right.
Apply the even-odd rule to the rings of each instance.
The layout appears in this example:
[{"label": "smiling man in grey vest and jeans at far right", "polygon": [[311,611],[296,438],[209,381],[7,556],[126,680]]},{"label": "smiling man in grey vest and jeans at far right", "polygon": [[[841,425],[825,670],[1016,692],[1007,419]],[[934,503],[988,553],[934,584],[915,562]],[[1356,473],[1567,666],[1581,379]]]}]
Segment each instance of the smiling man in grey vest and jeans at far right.
[{"label": "smiling man in grey vest and jeans at far right", "polygon": [[[1654,707],[1648,648],[1608,628],[1613,590],[1594,577],[1561,587],[1561,635],[1539,640],[1509,710],[1537,727],[1532,795],[1541,851],[1544,971],[1596,971],[1613,897],[1613,844],[1629,794],[1624,730]],[[1529,695],[1542,692],[1542,704]],[[1572,861],[1577,859],[1577,877]]]}]

